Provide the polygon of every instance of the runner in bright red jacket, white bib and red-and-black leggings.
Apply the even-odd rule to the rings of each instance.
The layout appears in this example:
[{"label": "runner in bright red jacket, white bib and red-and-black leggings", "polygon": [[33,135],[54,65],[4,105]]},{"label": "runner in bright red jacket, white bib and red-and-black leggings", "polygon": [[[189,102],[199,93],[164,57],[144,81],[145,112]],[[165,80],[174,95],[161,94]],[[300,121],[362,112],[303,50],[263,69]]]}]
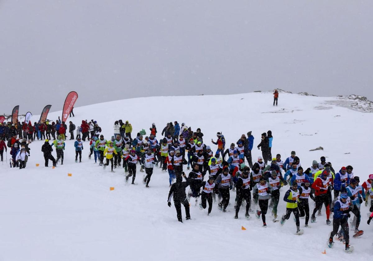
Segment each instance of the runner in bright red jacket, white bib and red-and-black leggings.
[{"label": "runner in bright red jacket, white bib and red-and-black leggings", "polygon": [[330,224],[330,220],[329,220],[330,207],[329,207],[329,200],[327,197],[327,191],[330,185],[330,179],[328,179],[329,174],[330,174],[330,167],[326,167],[311,186],[315,190],[315,202],[316,202],[316,207],[314,208],[312,216],[311,216],[312,223],[316,221],[316,217],[315,217],[316,212],[319,209],[321,209],[324,204],[326,208],[326,224],[328,225]]}]

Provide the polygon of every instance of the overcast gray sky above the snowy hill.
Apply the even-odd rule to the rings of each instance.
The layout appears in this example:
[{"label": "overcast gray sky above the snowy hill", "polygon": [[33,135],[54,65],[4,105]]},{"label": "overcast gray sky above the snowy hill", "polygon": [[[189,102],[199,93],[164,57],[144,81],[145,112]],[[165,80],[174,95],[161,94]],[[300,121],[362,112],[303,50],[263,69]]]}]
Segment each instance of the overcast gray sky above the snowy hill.
[{"label": "overcast gray sky above the snowy hill", "polygon": [[281,88],[373,100],[373,1],[1,0],[0,114]]}]

